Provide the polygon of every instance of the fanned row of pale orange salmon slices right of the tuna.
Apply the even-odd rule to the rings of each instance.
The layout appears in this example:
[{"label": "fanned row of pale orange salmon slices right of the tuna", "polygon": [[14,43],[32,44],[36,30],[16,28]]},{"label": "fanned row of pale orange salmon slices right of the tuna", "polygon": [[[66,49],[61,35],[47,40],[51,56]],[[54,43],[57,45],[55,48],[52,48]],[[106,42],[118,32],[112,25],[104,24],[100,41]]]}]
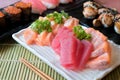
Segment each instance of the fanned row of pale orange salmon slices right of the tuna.
[{"label": "fanned row of pale orange salmon slices right of the tuna", "polygon": [[111,62],[111,47],[107,37],[93,28],[87,28],[85,31],[92,35],[91,43],[94,47],[87,67],[93,69],[107,68]]}]

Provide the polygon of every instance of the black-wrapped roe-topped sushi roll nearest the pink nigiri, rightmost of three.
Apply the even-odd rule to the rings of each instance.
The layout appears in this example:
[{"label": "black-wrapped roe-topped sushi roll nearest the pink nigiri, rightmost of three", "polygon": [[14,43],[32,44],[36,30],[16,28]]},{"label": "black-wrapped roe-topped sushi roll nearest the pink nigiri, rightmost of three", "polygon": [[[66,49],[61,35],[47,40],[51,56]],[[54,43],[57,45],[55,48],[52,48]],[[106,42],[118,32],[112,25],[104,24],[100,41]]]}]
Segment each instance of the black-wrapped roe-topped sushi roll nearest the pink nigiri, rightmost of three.
[{"label": "black-wrapped roe-topped sushi roll nearest the pink nigiri, rightmost of three", "polygon": [[23,21],[29,21],[31,16],[31,4],[30,3],[24,3],[24,2],[17,2],[14,4],[15,7],[22,10],[21,19]]}]

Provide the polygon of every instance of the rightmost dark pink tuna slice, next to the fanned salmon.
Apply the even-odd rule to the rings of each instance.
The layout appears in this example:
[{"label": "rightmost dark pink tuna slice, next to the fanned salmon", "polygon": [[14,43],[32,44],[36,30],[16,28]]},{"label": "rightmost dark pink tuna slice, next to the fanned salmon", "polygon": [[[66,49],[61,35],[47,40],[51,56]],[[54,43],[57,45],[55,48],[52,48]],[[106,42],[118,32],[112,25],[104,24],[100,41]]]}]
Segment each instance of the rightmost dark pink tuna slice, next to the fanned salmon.
[{"label": "rightmost dark pink tuna slice, next to the fanned salmon", "polygon": [[85,68],[86,63],[90,59],[91,53],[93,51],[93,45],[92,45],[92,43],[90,43],[87,40],[82,40],[81,42],[84,45],[84,50],[83,50],[82,57],[80,59],[80,64],[79,64],[79,69],[80,70],[82,70],[82,69]]}]

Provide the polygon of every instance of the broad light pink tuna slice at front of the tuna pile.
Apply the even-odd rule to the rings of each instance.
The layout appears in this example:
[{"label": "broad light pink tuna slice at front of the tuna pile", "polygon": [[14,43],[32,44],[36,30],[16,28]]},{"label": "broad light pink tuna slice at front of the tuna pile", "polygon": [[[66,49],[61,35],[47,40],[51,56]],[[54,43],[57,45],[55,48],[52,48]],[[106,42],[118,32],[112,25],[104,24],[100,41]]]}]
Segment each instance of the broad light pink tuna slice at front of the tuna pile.
[{"label": "broad light pink tuna slice at front of the tuna pile", "polygon": [[76,60],[77,40],[74,36],[69,36],[61,40],[60,63],[67,69],[75,69],[77,66]]}]

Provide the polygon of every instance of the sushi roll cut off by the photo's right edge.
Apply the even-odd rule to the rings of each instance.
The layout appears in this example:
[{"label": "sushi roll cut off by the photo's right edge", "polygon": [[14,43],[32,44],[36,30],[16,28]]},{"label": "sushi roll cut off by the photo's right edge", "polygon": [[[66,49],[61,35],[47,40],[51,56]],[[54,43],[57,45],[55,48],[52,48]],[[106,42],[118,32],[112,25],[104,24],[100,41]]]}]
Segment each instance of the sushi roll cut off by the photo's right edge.
[{"label": "sushi roll cut off by the photo's right edge", "polygon": [[114,30],[117,34],[120,34],[120,14],[115,15]]}]

